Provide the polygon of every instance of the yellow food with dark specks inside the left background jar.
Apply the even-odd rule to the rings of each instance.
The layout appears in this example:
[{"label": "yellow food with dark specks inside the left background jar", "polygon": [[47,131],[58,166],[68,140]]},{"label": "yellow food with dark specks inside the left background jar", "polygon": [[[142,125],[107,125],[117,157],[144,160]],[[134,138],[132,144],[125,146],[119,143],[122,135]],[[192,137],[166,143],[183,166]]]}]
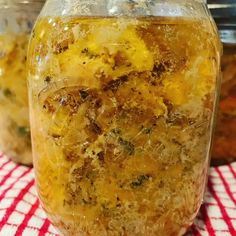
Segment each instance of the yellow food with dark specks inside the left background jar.
[{"label": "yellow food with dark specks inside the left background jar", "polygon": [[11,159],[32,164],[26,54],[28,34],[0,35],[0,148]]}]

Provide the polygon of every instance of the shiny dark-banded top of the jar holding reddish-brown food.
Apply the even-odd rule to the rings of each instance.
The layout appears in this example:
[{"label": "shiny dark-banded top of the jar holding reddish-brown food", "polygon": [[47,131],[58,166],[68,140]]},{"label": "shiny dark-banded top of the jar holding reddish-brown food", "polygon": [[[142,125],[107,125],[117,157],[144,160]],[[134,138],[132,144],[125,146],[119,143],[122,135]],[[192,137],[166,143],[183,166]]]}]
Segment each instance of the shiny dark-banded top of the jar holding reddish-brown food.
[{"label": "shiny dark-banded top of the jar holding reddish-brown food", "polygon": [[236,1],[208,0],[207,3],[219,29],[221,41],[236,44]]}]

